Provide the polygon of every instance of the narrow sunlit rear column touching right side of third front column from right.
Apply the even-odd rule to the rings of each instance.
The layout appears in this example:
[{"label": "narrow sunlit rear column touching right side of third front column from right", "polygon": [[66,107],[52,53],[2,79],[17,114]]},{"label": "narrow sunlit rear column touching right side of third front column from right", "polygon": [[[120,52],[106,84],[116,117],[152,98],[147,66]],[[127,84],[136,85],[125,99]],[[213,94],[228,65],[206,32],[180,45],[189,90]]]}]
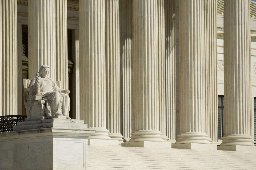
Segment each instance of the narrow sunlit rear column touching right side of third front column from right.
[{"label": "narrow sunlit rear column touching right side of third front column from right", "polygon": [[158,67],[159,67],[159,130],[162,139],[167,142],[166,136],[166,103],[165,103],[165,9],[164,0],[158,0]]}]

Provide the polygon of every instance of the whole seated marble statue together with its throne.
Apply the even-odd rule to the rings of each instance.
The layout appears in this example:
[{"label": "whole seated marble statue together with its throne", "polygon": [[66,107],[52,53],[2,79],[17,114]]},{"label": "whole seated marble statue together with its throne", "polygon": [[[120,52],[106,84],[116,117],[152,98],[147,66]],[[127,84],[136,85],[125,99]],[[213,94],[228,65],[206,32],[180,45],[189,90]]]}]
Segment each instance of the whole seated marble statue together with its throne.
[{"label": "whole seated marble statue together with its throne", "polygon": [[[41,111],[38,119],[55,118],[56,116],[65,116],[69,118],[70,99],[68,89],[60,89],[56,82],[48,77],[50,67],[42,65],[39,72],[29,83],[23,80],[26,85],[26,113],[28,119],[37,119],[33,114]],[[29,84],[29,85],[28,85]],[[25,87],[24,87],[25,88]],[[37,106],[40,105],[40,106]],[[29,106],[29,108],[28,108]],[[29,113],[27,112],[29,109]]]}]

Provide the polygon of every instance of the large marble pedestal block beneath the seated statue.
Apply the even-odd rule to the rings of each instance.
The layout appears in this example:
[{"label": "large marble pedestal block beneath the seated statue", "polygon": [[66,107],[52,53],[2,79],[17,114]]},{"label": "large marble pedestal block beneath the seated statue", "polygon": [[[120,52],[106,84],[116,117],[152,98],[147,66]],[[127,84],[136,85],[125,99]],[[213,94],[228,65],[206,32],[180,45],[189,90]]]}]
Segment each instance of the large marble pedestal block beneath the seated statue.
[{"label": "large marble pedestal block beneath the seated statue", "polygon": [[0,134],[0,146],[13,152],[6,159],[13,162],[10,169],[86,169],[87,139],[95,131],[89,130],[83,120],[19,122],[14,129]]}]

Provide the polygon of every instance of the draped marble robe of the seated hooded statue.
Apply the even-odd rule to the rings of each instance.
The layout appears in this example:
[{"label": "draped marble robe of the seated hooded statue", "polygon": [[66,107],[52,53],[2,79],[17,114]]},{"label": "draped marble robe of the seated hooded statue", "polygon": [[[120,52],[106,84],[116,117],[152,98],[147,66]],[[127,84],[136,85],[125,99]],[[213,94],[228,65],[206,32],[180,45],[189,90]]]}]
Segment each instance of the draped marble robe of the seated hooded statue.
[{"label": "draped marble robe of the seated hooded statue", "polygon": [[[69,116],[70,111],[70,99],[67,94],[61,93],[61,90],[57,84],[49,77],[40,78],[41,89],[40,94],[42,98],[46,100],[45,115],[47,118],[51,118],[53,115],[65,115]],[[35,95],[36,88],[35,78],[33,78],[29,85],[29,100],[32,101],[32,97]]]}]

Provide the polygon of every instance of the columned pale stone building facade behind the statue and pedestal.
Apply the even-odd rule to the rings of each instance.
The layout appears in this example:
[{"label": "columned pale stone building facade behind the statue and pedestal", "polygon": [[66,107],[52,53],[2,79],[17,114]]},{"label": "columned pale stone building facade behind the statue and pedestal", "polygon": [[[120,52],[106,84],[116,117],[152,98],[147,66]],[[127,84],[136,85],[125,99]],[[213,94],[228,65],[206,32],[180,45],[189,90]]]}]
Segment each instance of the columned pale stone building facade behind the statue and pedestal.
[{"label": "columned pale stone building facade behind the statue and pedestal", "polygon": [[[210,159],[208,168],[218,169],[214,157],[225,157],[223,168],[238,159],[229,155],[233,146],[254,146],[255,2],[2,0],[0,5],[0,115],[25,115],[22,79],[49,65],[50,77],[70,89],[70,117],[96,130],[92,139],[119,141],[120,147],[105,148],[109,155],[103,146],[90,146],[89,169],[181,168],[175,159],[181,155],[189,164],[183,168],[204,169]],[[207,156],[208,151],[156,146],[139,155],[140,149],[125,147],[145,141],[173,148],[191,144],[190,149],[210,144],[216,150]],[[229,151],[217,151],[217,145]],[[247,154],[244,161],[253,169],[254,152],[247,151],[236,153]],[[147,153],[168,160],[154,162]],[[237,166],[244,168],[243,161]]]}]

